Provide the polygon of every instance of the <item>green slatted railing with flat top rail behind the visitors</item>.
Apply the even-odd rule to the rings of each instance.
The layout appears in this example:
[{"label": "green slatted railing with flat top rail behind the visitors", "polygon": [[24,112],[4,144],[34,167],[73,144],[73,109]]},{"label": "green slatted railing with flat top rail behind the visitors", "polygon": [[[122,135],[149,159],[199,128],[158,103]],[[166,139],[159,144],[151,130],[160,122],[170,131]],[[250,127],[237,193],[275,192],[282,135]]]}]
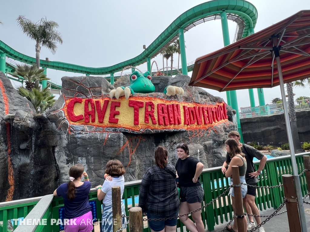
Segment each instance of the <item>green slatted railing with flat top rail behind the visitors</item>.
[{"label": "green slatted railing with flat top rail behind the visitors", "polygon": [[[310,152],[301,153],[296,155],[296,162],[298,166],[299,173],[302,173],[304,170],[303,164],[303,156],[310,155]],[[255,168],[257,169],[259,166],[259,161],[254,163]],[[282,174],[292,174],[291,160],[290,156],[278,157],[267,160],[266,165],[262,171],[262,174],[259,175],[258,186],[267,187],[267,186],[277,186],[282,184]],[[203,190],[205,192],[204,201],[202,205],[206,205],[219,195],[221,195],[228,187],[229,181],[222,172],[221,167],[208,168],[204,169],[200,180],[202,183]],[[307,182],[305,178],[305,174],[300,176],[300,182],[302,187],[303,196],[307,194]],[[125,189],[123,193],[123,199],[125,201],[125,210],[126,215],[128,216],[128,208],[135,206],[138,204],[137,200],[135,200],[135,196],[139,195],[139,187],[141,180],[132,181],[125,183]],[[278,208],[284,200],[283,187],[277,188],[258,188],[257,189],[257,197],[256,204],[258,205],[260,210],[267,208]],[[97,206],[97,218],[102,217],[101,212],[101,202],[96,198],[95,189],[91,190],[89,194],[89,200],[95,200]],[[11,220],[13,218],[26,217],[30,210],[39,202],[39,198],[24,199],[17,200],[13,202],[3,202],[0,203],[0,221],[3,221],[3,226],[0,226],[0,232],[7,232],[7,220]],[[129,200],[131,200],[132,204],[128,205]],[[20,203],[22,202],[22,203]],[[8,204],[6,206],[2,206],[3,204]],[[59,218],[59,208],[63,207],[62,198],[55,198],[52,203],[47,206],[47,210],[44,214],[44,218],[47,218],[47,222],[51,220],[51,218]],[[232,205],[230,196],[227,194],[220,197],[213,204],[207,206],[202,209],[201,217],[208,228],[208,230],[214,230],[215,224],[224,223],[224,221],[229,221],[232,219]],[[191,217],[190,217],[191,218]],[[37,226],[34,230],[36,232],[41,231],[59,231],[59,226],[54,225],[51,226],[47,223],[47,226]],[[178,219],[177,227],[180,228],[181,232],[184,232],[184,225]],[[14,229],[16,225],[14,225]],[[149,228],[144,228],[144,232],[148,232]],[[188,230],[186,230],[188,231]],[[129,228],[127,228],[127,232],[129,232]]]}]

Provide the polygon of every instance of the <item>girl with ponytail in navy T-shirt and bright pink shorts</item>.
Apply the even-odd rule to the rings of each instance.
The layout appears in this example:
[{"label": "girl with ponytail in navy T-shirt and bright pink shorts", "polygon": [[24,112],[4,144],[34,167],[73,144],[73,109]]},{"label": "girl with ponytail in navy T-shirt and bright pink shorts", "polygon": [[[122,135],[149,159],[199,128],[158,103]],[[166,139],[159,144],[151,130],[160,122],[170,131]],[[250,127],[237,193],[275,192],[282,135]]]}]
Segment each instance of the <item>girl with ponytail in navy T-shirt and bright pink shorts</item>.
[{"label": "girl with ponytail in navy T-shirt and bright pink shorts", "polygon": [[[83,176],[85,181],[81,182]],[[69,182],[61,184],[53,193],[54,196],[62,196],[64,199],[64,218],[73,219],[76,224],[65,225],[64,231],[90,232],[94,229],[88,201],[90,190],[91,183],[83,165],[73,165],[69,170]]]}]

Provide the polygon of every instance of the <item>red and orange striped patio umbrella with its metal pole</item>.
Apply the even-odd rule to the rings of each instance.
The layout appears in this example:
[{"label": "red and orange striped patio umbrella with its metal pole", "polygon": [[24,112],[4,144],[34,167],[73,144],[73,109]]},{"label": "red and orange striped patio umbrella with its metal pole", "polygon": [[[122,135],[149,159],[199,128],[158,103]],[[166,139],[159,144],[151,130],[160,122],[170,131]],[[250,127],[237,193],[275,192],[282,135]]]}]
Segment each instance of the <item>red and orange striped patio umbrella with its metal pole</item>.
[{"label": "red and orange striped patio umbrella with its metal pole", "polygon": [[[189,85],[218,91],[280,85],[303,231],[305,216],[284,83],[310,77],[310,11],[196,59]],[[304,224],[304,225],[303,225]]]}]

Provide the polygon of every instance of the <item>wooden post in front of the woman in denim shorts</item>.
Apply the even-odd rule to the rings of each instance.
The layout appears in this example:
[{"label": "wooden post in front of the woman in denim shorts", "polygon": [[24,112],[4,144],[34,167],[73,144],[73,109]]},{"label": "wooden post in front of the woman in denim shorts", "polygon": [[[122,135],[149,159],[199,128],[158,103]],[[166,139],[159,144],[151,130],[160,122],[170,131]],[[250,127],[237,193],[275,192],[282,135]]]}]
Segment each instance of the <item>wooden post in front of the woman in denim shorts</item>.
[{"label": "wooden post in front of the woman in denim shorts", "polygon": [[[239,167],[232,166],[232,183],[233,184],[240,184],[240,175],[239,175]],[[242,195],[241,195],[241,187],[233,187],[234,191],[234,199],[235,199],[235,209],[234,212],[236,215],[244,215],[243,211],[243,204],[242,204]],[[243,218],[235,218],[237,220],[238,231],[239,232],[246,232],[246,227],[244,225]]]}]

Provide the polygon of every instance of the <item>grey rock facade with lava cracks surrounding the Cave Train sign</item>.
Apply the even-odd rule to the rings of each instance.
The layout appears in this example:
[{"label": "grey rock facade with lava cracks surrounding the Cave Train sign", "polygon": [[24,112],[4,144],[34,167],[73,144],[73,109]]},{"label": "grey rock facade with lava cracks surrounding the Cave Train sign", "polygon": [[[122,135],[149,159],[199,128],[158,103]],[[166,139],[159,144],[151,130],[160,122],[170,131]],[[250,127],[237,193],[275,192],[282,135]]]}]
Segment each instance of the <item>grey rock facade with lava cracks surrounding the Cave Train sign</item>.
[{"label": "grey rock facade with lava cracks surrounding the Cave Train sign", "polygon": [[[4,88],[10,88],[11,84],[8,83],[10,81],[2,75],[0,78],[5,82]],[[15,108],[12,106],[10,114],[4,114],[2,112],[4,108],[0,105],[2,107],[0,108],[2,141],[0,171],[6,174],[0,178],[2,187],[0,201],[7,200],[7,192],[10,188],[10,183],[7,181],[8,141],[11,144],[11,166],[15,178],[11,200],[52,193],[59,184],[68,181],[69,168],[76,163],[85,166],[93,187],[103,183],[105,166],[111,159],[120,160],[126,167],[126,181],[139,180],[144,171],[154,165],[154,151],[158,146],[168,150],[168,162],[175,165],[176,144],[180,142],[188,144],[190,155],[200,160],[205,168],[223,164],[226,155],[224,141],[227,139],[228,132],[234,127],[234,124],[227,120],[206,130],[155,134],[105,131],[100,127],[86,125],[69,126],[62,110],[66,97],[108,96],[111,89],[118,87],[121,82],[126,83],[126,78],[122,78],[112,86],[100,77],[63,77],[62,95],[51,110],[44,114],[33,114],[34,109],[27,106],[31,103],[29,104],[22,97],[18,98],[18,93],[14,88],[11,89],[12,96],[8,96],[9,99],[19,99],[18,103],[12,104],[21,106],[15,106]],[[216,102],[223,101],[201,88],[189,87],[189,80],[190,77],[186,75],[177,75],[174,78],[152,77],[158,91],[163,91],[166,84],[183,88],[185,94],[182,99],[185,102],[214,105]],[[139,94],[139,96],[144,95]],[[145,96],[165,97],[161,92],[145,94]],[[175,98],[167,97],[168,100]],[[227,107],[227,110],[228,116],[231,115],[231,108]],[[10,138],[4,133],[7,125],[11,131]]]}]

